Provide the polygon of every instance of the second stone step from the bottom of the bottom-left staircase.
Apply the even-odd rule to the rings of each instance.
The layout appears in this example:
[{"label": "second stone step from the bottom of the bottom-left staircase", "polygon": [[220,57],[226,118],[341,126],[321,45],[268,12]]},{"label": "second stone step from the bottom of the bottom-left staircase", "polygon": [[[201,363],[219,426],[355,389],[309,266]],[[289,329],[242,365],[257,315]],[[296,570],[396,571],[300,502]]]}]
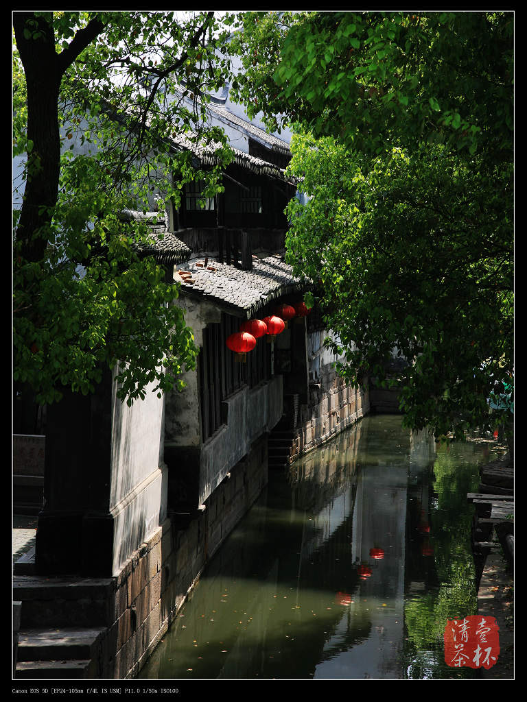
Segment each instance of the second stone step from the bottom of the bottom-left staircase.
[{"label": "second stone step from the bottom of the bottom-left staircase", "polygon": [[89,660],[105,631],[104,627],[21,629],[18,632],[17,661]]}]

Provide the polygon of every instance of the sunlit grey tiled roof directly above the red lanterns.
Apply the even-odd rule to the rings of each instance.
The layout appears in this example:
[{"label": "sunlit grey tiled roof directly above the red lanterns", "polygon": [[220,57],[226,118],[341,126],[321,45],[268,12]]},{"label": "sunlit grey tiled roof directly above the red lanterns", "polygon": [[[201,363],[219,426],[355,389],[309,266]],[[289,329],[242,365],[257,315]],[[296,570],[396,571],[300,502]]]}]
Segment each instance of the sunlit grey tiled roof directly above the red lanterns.
[{"label": "sunlit grey tiled roof directly above the red lanterns", "polygon": [[207,267],[200,261],[189,263],[178,271],[182,291],[200,296],[223,310],[249,319],[257,310],[288,293],[302,293],[307,284],[295,278],[292,268],[278,256],[253,259],[252,270],[240,270],[232,265],[209,259]]}]

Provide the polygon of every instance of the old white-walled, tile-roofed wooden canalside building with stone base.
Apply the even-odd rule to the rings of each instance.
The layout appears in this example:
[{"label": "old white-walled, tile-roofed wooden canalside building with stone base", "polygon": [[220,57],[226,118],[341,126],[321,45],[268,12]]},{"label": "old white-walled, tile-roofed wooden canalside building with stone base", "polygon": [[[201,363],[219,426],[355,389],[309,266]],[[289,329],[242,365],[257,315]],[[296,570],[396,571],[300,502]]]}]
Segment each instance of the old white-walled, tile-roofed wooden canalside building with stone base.
[{"label": "old white-walled, tile-roofed wooden canalside building with stone base", "polygon": [[[279,316],[280,305],[301,305],[314,290],[285,261],[284,209],[297,195],[285,174],[287,141],[227,100],[213,100],[209,112],[235,146],[224,192],[202,207],[198,181],[178,208],[120,215],[124,228],[135,218],[150,225],[142,253],[178,286],[174,304],[200,348],[197,368],[183,377],[183,392],[150,393],[131,407],[117,400],[108,371],[96,395],[66,396],[45,421],[39,415],[44,499],[36,553],[23,570],[15,564],[13,594],[21,633],[39,634],[22,636],[31,644],[20,647],[17,677],[56,677],[56,658],[72,677],[134,677],[269,468],[283,470],[368,411],[367,389],[337,377],[316,307],[299,307],[242,361],[228,347],[242,323]],[[183,138],[172,146],[214,164],[212,150]],[[35,433],[28,426],[20,424],[22,441]],[[51,660],[57,628],[62,643]],[[52,640],[45,659],[39,637]],[[84,641],[82,658],[68,637]]]}]

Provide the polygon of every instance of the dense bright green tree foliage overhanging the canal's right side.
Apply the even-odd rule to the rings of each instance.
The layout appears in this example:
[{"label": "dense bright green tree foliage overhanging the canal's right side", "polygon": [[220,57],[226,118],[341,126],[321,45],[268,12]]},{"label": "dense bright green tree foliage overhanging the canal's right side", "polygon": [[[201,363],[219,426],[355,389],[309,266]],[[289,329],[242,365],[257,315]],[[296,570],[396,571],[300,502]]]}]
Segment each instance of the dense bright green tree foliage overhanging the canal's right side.
[{"label": "dense bright green tree foliage overhanging the canal's right side", "polygon": [[287,209],[288,260],[319,282],[341,373],[393,382],[403,356],[412,428],[510,425],[488,399],[514,363],[512,14],[246,13],[242,26],[235,89],[270,126],[295,125],[289,172],[307,199]]}]

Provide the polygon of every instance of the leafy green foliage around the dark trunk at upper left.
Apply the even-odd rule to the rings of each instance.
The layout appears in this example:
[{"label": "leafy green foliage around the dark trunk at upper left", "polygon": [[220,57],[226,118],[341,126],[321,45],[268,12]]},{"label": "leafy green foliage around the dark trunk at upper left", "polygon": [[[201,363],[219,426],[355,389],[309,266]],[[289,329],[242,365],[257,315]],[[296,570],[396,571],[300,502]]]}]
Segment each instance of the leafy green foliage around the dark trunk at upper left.
[{"label": "leafy green foliage around the dark trunk at upper left", "polygon": [[[13,153],[25,154],[13,239],[14,378],[39,402],[92,392],[119,363],[122,399],[155,382],[181,387],[197,349],[177,286],[138,255],[144,225],[125,208],[178,206],[184,183],[221,190],[226,139],[203,98],[223,83],[226,39],[214,13],[15,12]],[[218,166],[196,168],[174,140],[205,140]]]}]

